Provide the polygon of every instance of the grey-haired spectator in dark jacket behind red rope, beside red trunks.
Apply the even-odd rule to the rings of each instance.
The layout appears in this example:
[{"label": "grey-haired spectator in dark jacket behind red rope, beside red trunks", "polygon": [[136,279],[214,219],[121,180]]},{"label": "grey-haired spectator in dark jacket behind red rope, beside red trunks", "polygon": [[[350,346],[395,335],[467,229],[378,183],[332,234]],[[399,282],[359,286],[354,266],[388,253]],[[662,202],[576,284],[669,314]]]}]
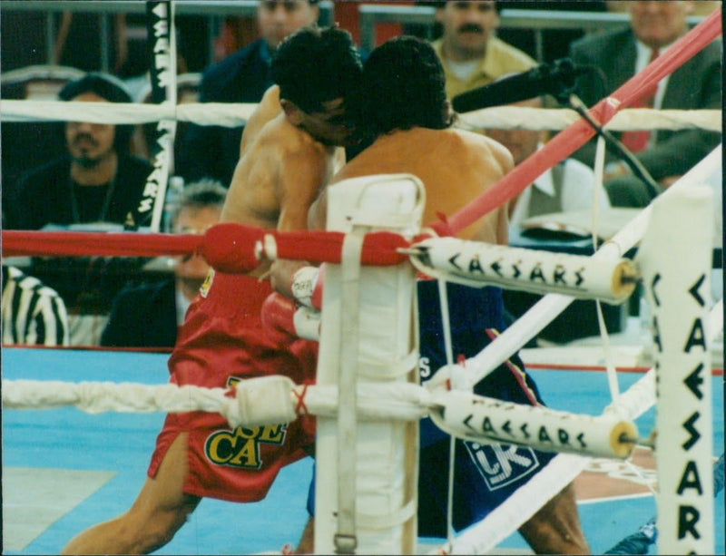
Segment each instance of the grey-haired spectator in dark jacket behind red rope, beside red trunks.
[{"label": "grey-haired spectator in dark jacket behind red rope, beside red trunks", "polygon": [[[219,222],[226,194],[218,181],[189,184],[173,212],[172,233],[204,233]],[[177,329],[208,271],[206,261],[191,254],[174,260],[172,278],[124,288],[113,301],[101,345],[173,347]]]}]

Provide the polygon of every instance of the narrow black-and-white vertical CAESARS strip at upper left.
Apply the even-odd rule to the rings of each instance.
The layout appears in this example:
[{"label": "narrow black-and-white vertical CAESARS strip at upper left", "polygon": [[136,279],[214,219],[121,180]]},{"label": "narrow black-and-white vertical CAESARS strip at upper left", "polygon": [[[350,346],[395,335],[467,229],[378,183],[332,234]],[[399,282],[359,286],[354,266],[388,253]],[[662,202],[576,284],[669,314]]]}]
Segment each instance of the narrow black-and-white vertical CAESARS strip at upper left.
[{"label": "narrow black-and-white vertical CAESARS strip at upper left", "polygon": [[[146,3],[146,26],[149,44],[150,69],[154,104],[176,107],[176,42],[174,37],[173,4],[171,0]],[[153,171],[146,179],[142,198],[126,219],[126,229],[148,226],[160,229],[164,196],[172,167],[176,119],[157,122],[149,156]]]}]

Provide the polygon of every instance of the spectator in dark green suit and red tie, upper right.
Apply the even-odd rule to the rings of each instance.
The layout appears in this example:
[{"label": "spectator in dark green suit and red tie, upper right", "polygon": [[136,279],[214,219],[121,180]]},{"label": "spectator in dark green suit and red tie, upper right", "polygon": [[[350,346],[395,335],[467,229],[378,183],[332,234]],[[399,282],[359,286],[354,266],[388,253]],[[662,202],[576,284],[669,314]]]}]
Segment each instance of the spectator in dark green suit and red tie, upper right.
[{"label": "spectator in dark green suit and red tie, upper right", "polygon": [[[571,56],[575,63],[601,68],[607,78],[607,92],[613,91],[688,31],[686,17],[693,7],[693,2],[685,1],[629,2],[627,29],[576,41],[572,44]],[[579,84],[584,102],[591,106],[600,100],[594,97],[594,92],[601,91],[602,87],[588,79],[581,77]],[[645,106],[659,109],[720,109],[721,41],[714,41],[694,54],[646,97],[650,98],[645,99]],[[619,137],[659,184],[658,190],[649,190],[642,180],[632,175],[623,160],[608,152],[605,187],[613,206],[626,207],[648,205],[656,194],[690,170],[721,141],[720,133],[700,130],[626,132]],[[591,141],[574,157],[592,166],[594,149]]]}]

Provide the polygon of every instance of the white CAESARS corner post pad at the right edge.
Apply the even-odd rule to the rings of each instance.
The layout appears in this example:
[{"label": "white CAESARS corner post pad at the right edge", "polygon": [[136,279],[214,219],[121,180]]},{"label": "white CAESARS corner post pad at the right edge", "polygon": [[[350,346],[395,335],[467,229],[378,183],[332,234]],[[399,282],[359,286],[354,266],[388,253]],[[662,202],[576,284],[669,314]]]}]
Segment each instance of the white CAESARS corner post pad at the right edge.
[{"label": "white CAESARS corner post pad at the right edge", "polygon": [[[669,191],[669,193],[671,193]],[[652,202],[638,255],[656,377],[658,553],[713,554],[711,190],[689,187]]]}]

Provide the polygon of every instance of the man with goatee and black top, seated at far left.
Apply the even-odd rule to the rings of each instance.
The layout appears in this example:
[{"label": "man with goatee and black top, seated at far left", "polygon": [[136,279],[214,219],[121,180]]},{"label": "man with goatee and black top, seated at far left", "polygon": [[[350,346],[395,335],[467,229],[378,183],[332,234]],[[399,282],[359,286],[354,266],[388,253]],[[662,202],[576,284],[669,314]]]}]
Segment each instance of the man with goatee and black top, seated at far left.
[{"label": "man with goatee and black top, seated at far left", "polygon": [[[121,81],[87,73],[66,83],[61,101],[132,102]],[[133,127],[65,122],[67,152],[28,171],[3,203],[7,229],[109,224],[121,228],[142,199],[152,165],[129,152]],[[54,288],[69,313],[70,343],[98,344],[111,299],[141,266],[141,258],[33,258],[28,272]]]}]

